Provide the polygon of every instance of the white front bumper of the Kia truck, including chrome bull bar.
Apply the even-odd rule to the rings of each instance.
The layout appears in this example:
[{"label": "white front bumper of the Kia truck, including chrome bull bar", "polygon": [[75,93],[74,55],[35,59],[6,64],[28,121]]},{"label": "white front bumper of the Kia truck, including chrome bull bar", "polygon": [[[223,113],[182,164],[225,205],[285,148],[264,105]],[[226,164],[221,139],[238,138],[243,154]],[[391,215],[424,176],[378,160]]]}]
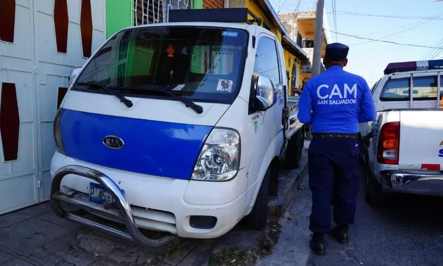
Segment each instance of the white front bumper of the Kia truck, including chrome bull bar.
[{"label": "white front bumper of the Kia truck, including chrome bull bar", "polygon": [[[172,236],[148,239],[139,228],[180,237],[216,238],[229,232],[248,210],[242,170],[227,182],[175,180],[90,165],[56,152],[51,175],[51,207],[58,216],[149,247],[164,245]],[[92,181],[112,194],[117,208],[89,201]],[[67,212],[61,202],[125,225],[126,230]],[[211,228],[198,228],[192,224],[195,216],[215,217],[216,222]]]}]

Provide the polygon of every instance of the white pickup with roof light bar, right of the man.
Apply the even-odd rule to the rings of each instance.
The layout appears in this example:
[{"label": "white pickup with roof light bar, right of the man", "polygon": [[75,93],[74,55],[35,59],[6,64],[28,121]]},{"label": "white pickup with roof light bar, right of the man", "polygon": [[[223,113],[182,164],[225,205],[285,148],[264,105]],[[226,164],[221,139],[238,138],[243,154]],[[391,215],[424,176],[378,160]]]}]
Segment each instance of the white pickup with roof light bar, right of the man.
[{"label": "white pickup with roof light bar, right of the man", "polygon": [[443,60],[389,63],[372,87],[376,119],[368,136],[366,200],[384,192],[443,195]]}]

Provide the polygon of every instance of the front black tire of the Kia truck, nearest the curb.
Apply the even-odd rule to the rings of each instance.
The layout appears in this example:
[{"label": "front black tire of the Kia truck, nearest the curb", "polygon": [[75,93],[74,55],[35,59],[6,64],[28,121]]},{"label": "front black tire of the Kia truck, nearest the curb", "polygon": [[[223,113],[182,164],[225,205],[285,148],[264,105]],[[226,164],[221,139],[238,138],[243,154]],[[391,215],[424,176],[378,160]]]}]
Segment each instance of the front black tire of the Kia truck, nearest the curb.
[{"label": "front black tire of the Kia truck, nearest the curb", "polygon": [[261,230],[268,223],[268,196],[269,196],[269,180],[271,178],[271,167],[265,173],[263,182],[261,182],[260,190],[258,190],[254,207],[245,219],[245,225],[253,230]]}]

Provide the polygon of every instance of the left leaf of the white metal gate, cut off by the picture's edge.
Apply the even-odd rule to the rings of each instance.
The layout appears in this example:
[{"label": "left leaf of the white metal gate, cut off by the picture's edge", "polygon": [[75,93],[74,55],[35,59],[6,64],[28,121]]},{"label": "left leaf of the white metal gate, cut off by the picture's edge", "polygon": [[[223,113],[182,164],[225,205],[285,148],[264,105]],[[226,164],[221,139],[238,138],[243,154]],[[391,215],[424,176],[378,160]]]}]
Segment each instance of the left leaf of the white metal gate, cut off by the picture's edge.
[{"label": "left leaf of the white metal gate, cut off by the picture's edge", "polygon": [[32,1],[1,1],[0,214],[38,202]]}]

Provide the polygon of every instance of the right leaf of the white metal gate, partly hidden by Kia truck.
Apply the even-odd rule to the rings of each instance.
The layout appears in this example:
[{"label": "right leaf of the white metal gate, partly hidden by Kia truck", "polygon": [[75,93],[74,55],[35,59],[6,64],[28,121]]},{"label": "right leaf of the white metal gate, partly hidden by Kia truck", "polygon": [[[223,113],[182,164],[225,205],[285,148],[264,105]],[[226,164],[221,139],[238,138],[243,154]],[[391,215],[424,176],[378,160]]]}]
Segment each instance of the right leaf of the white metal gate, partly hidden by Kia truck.
[{"label": "right leaf of the white metal gate, partly hidden by Kia truck", "polygon": [[33,0],[40,201],[49,199],[52,124],[73,68],[105,41],[105,0]]}]

